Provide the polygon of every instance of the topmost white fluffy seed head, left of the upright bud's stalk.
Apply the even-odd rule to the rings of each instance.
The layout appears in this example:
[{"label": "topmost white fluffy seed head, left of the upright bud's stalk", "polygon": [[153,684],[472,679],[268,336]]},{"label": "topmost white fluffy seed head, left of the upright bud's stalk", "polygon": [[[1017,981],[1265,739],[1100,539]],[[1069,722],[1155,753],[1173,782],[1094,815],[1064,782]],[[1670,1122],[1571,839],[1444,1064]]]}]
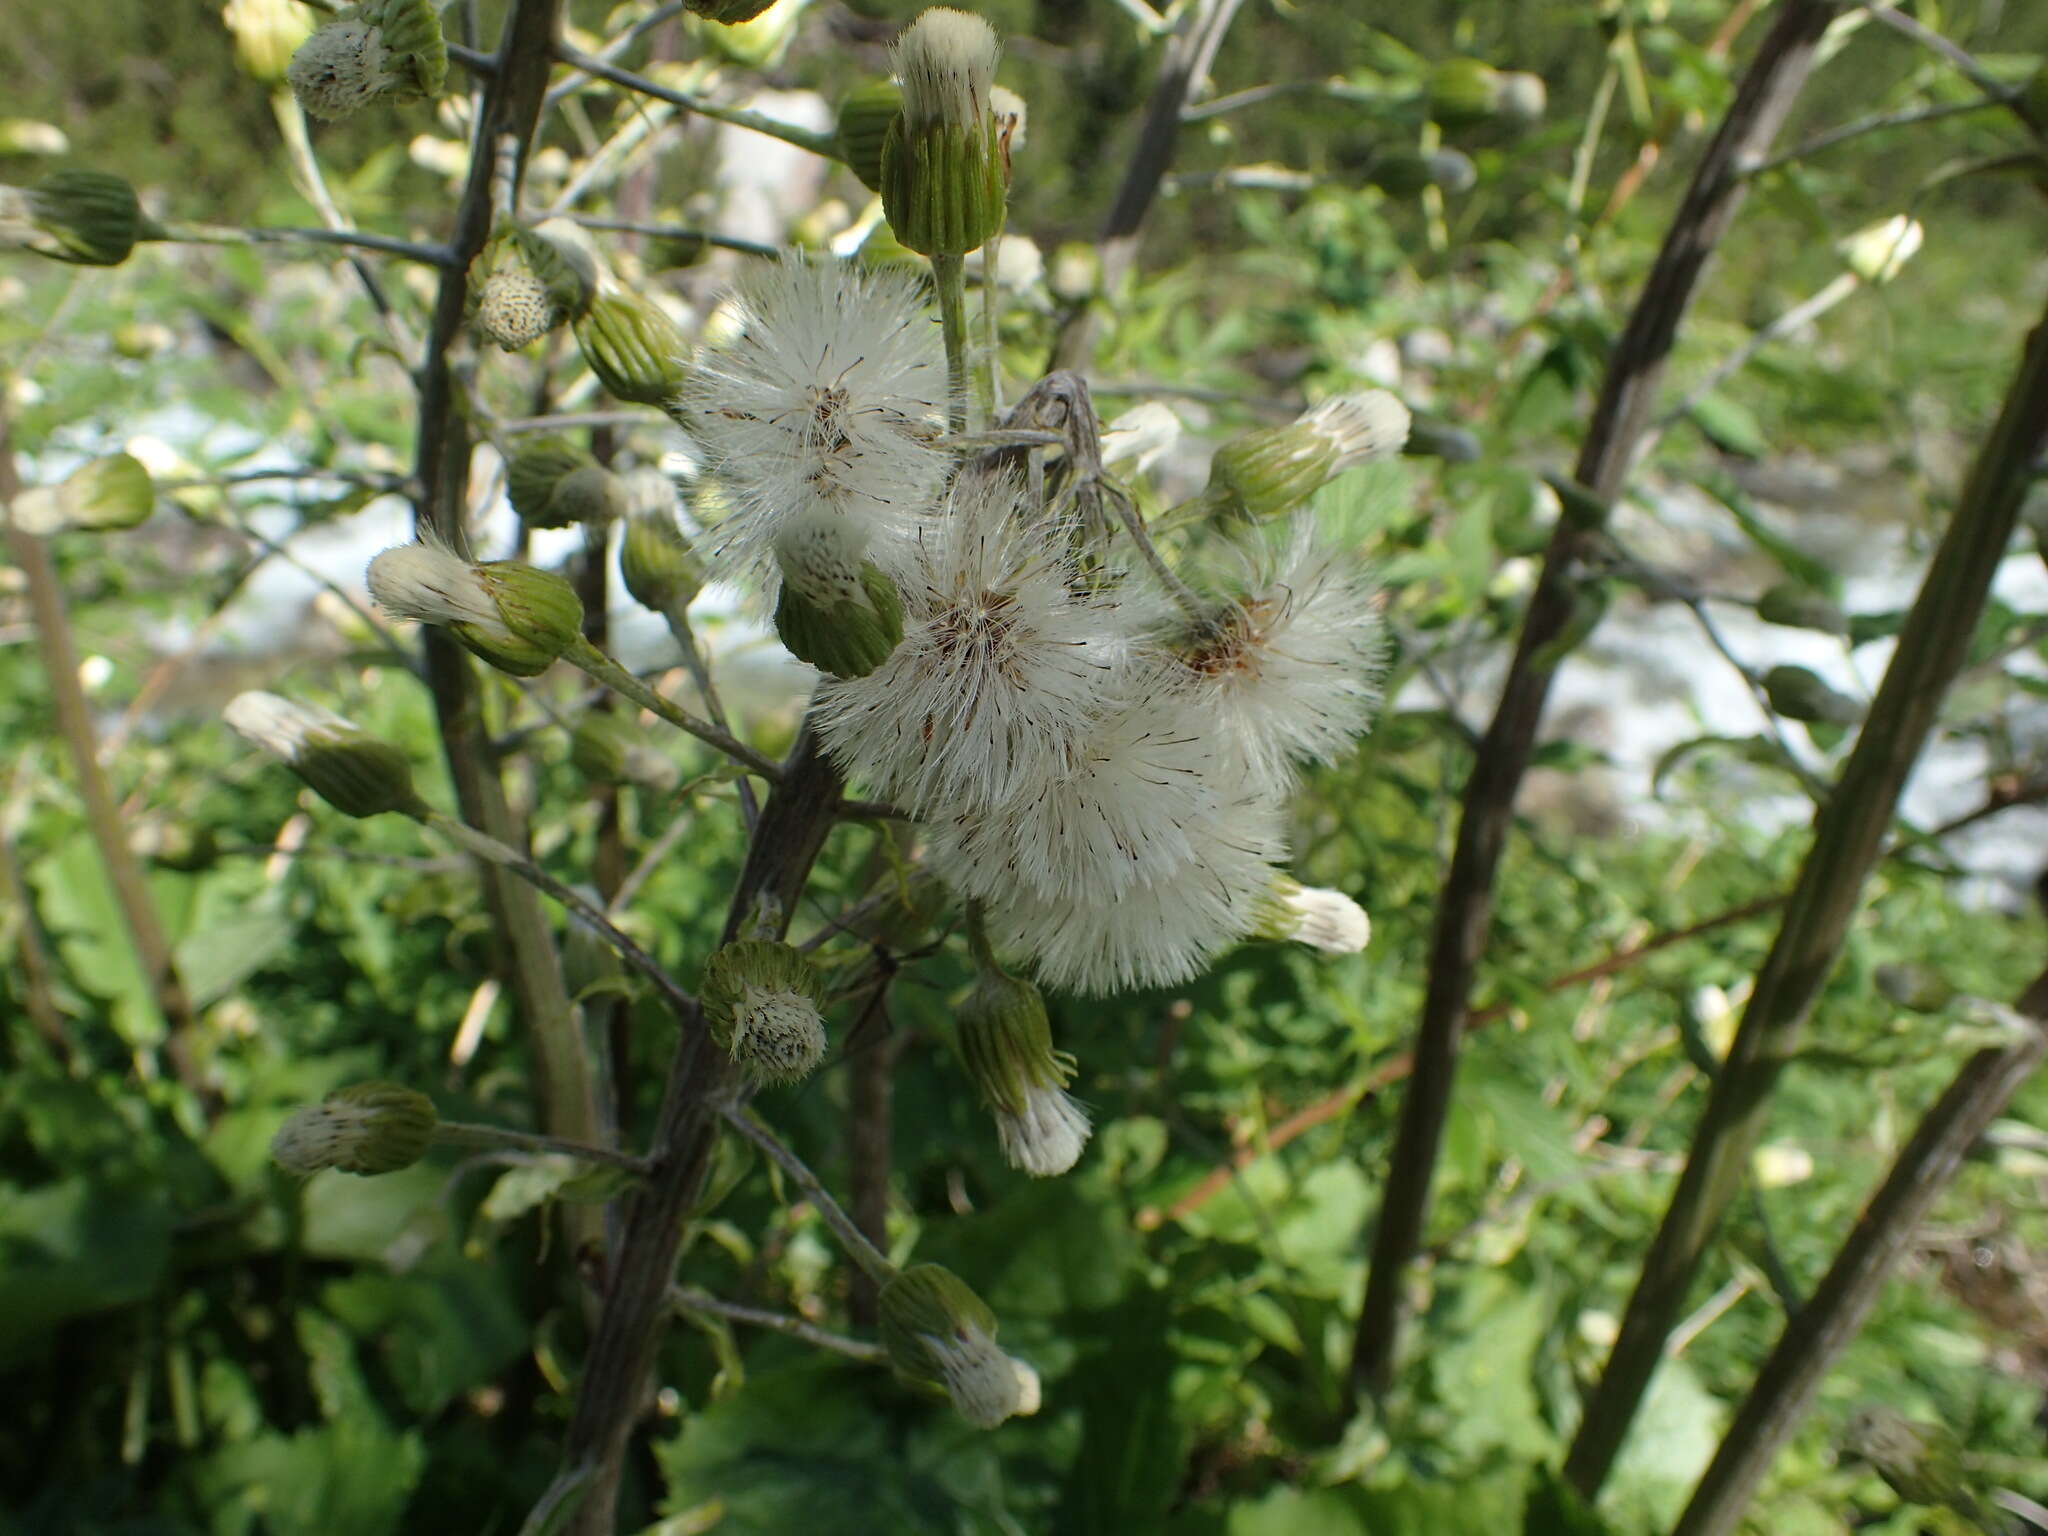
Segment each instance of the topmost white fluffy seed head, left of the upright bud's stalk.
[{"label": "topmost white fluffy seed head, left of the upright bud's stalk", "polygon": [[682,397],[733,504],[707,539],[713,573],[772,598],[776,539],[817,502],[897,573],[948,467],[946,360],[918,283],[791,256],[741,283],[733,319]]}]

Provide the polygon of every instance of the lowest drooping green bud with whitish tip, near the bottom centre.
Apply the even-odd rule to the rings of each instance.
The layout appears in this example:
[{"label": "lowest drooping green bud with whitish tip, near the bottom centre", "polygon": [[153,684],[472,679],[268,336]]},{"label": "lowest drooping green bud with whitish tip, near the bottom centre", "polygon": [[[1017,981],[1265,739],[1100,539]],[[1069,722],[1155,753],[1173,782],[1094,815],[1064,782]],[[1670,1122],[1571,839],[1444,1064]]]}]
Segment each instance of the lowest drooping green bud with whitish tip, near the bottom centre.
[{"label": "lowest drooping green bud with whitish tip, near the bottom centre", "polygon": [[911,1264],[883,1286],[879,1333],[899,1380],[942,1391],[977,1430],[1038,1411],[1038,1372],[995,1348],[995,1313],[938,1264]]}]

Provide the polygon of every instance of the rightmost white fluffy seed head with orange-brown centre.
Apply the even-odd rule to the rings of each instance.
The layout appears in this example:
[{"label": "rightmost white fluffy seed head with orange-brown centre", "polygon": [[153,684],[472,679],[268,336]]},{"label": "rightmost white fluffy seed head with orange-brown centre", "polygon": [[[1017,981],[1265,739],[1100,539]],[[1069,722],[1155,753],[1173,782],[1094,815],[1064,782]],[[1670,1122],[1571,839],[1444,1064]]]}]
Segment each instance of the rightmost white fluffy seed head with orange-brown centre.
[{"label": "rightmost white fluffy seed head with orange-brown centre", "polygon": [[1331,762],[1372,725],[1386,664],[1378,588],[1307,528],[1282,549],[1241,547],[1235,596],[1171,641],[1171,690],[1284,786],[1296,762]]}]

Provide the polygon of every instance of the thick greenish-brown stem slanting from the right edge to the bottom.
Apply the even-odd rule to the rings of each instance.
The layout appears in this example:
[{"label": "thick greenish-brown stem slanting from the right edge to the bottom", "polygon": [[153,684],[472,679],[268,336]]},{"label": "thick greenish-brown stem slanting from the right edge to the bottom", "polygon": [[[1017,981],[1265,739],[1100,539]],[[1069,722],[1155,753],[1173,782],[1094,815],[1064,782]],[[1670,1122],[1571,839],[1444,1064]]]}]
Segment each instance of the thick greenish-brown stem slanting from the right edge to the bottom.
[{"label": "thick greenish-brown stem slanting from the right edge to the bottom", "polygon": [[1806,1014],[1841,954],[1898,791],[1933,729],[1942,696],[1968,657],[1991,578],[2044,444],[2048,319],[2028,338],[1999,422],[1970,469],[1849,762],[1815,821],[1812,850],[1792,887],[1784,926],[1757,973],[1735,1044],[1694,1133],[1686,1174],[1642,1262],[1614,1354],[1565,1462],[1565,1475],[1581,1493],[1595,1493],[1614,1464],[1706,1245],[1743,1184],[1778,1073],[1798,1049]]}]

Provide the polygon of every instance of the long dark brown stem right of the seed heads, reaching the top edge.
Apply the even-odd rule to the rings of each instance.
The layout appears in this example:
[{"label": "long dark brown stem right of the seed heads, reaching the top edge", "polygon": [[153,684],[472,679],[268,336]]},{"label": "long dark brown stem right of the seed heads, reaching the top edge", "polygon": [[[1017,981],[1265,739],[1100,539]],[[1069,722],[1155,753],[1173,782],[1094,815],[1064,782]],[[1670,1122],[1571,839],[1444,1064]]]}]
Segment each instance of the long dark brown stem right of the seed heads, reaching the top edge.
[{"label": "long dark brown stem right of the seed heads, reaching the top edge", "polygon": [[[1679,319],[1700,285],[1706,258],[1741,207],[1741,166],[1778,135],[1835,12],[1833,0],[1788,0],[1694,172],[1628,328],[1614,348],[1573,473],[1599,504],[1614,502],[1634,463]],[[1501,702],[1464,784],[1458,842],[1430,944],[1430,981],[1415,1032],[1415,1075],[1386,1174],[1366,1300],[1352,1350],[1348,1393],[1354,1399],[1362,1391],[1382,1391],[1393,1380],[1405,1270],[1430,1210],[1473,977],[1493,922],[1493,881],[1513,823],[1516,791],[1550,696],[1550,678],[1563,659],[1554,641],[1571,625],[1575,567],[1587,545],[1589,530],[1579,520],[1561,516],[1522,621]]]}]

